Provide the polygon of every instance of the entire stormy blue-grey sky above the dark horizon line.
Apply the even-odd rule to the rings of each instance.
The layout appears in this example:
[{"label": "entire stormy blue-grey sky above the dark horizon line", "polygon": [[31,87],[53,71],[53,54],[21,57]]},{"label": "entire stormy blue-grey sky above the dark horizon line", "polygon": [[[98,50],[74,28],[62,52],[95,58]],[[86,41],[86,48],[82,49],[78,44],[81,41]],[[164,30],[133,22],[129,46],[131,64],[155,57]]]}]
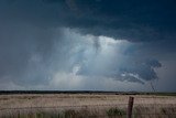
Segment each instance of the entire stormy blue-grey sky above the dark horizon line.
[{"label": "entire stormy blue-grey sky above the dark horizon line", "polygon": [[176,92],[175,0],[0,0],[0,90]]}]

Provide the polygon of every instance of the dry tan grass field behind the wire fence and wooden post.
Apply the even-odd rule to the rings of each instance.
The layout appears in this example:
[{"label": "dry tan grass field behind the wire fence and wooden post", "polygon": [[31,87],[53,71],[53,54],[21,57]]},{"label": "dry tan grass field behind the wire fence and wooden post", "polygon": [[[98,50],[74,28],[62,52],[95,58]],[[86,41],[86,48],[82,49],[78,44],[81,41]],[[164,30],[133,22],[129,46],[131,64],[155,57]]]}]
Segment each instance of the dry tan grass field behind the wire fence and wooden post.
[{"label": "dry tan grass field behind the wire fence and wooden post", "polygon": [[[132,95],[134,118],[176,118],[176,97]],[[125,118],[129,95],[0,95],[2,118]]]}]

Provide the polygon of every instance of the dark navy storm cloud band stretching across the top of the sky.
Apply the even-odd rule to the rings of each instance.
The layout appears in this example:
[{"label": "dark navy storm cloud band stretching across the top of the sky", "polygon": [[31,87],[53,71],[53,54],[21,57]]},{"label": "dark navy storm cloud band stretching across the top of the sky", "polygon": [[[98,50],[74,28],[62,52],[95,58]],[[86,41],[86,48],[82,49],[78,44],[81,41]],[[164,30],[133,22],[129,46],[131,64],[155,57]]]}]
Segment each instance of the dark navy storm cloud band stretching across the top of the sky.
[{"label": "dark navy storm cloud band stretching across the top of the sky", "polygon": [[3,3],[1,12],[6,11],[2,17],[12,14],[42,26],[63,25],[143,42],[176,37],[174,4],[174,0],[14,0]]}]

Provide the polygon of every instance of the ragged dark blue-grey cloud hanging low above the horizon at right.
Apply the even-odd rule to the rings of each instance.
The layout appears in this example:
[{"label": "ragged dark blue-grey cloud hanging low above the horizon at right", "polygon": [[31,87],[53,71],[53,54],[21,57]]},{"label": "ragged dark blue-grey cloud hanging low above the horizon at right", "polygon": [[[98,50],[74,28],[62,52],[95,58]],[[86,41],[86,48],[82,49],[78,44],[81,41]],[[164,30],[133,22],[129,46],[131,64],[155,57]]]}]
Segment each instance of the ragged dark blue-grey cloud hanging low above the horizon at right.
[{"label": "ragged dark blue-grey cloud hanging low above the horizon at right", "polygon": [[[113,55],[116,55],[116,53]],[[117,56],[119,56],[120,58],[119,54]],[[158,78],[155,72],[155,68],[162,67],[162,64],[158,61],[156,60],[145,61],[143,58],[139,58],[138,61],[131,61],[135,58],[136,57],[133,55],[128,56],[128,58],[122,57],[123,61],[113,61],[111,62],[113,65],[103,66],[106,68],[101,68],[100,66],[102,63],[101,61],[103,61],[103,63],[109,63],[110,61],[108,60],[108,57],[107,58],[105,57],[103,60],[98,60],[99,62],[97,63],[91,62],[92,65],[90,64],[82,65],[78,74],[87,76],[108,77],[108,78],[114,78],[117,81],[122,81],[122,82],[128,81],[141,84],[144,84],[144,82],[147,81],[153,81]],[[97,65],[99,65],[100,67],[97,67]]]}]

